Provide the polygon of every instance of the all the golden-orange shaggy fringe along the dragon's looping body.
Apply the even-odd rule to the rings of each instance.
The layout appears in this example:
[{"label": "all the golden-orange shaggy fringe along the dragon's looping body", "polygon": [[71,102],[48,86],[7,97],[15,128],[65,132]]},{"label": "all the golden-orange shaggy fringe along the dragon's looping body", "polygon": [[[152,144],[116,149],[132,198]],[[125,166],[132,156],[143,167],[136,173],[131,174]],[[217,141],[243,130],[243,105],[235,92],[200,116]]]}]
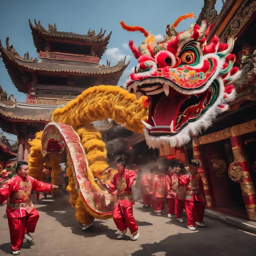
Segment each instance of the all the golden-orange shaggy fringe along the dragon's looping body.
[{"label": "all the golden-orange shaggy fringe along the dragon's looping body", "polygon": [[[151,38],[150,40],[153,40]],[[126,128],[134,132],[143,132],[141,120],[146,120],[148,116],[148,106],[143,106],[146,97],[136,100],[135,94],[130,94],[126,90],[112,85],[99,85],[88,88],[82,92],[76,99],[70,101],[63,108],[58,108],[52,115],[52,121],[68,124],[77,132],[81,138],[81,144],[85,149],[90,170],[85,170],[88,180],[93,185],[93,189],[101,191],[94,182],[94,177],[110,182],[114,171],[111,174],[105,174],[108,167],[106,145],[102,141],[101,134],[90,124],[92,121],[110,118],[116,123],[125,124]],[[31,154],[29,157],[42,155],[41,137],[37,135],[38,141],[31,143]],[[40,146],[39,146],[40,143]],[[32,147],[32,144],[35,144]],[[59,165],[59,155],[49,154],[49,163],[52,166],[52,184],[59,184],[61,180],[61,166]],[[40,166],[43,168],[43,159],[40,159]],[[39,163],[38,163],[39,164]],[[38,166],[34,163],[34,166]],[[67,191],[70,193],[69,202],[76,208],[76,218],[83,224],[90,224],[97,217],[100,219],[112,218],[112,214],[97,214],[88,207],[81,193],[76,191],[76,181],[73,177],[72,166],[70,165],[70,156],[67,155],[67,176],[69,184]],[[40,170],[42,173],[42,170]],[[92,175],[93,174],[93,175]],[[103,192],[103,191],[101,191]],[[104,192],[103,192],[104,193]]]}]

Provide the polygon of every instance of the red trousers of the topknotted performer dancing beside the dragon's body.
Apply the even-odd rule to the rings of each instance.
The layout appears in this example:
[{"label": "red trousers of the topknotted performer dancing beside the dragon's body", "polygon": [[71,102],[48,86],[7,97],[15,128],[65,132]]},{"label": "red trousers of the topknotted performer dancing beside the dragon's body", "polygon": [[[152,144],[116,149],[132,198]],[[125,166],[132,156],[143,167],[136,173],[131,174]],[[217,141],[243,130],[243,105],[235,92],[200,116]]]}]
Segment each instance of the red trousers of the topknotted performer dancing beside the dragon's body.
[{"label": "red trousers of the topknotted performer dancing beside the dragon's body", "polygon": [[133,217],[132,206],[123,207],[120,204],[115,206],[113,210],[113,220],[120,231],[124,231],[128,227],[131,234],[137,233],[138,226]]}]

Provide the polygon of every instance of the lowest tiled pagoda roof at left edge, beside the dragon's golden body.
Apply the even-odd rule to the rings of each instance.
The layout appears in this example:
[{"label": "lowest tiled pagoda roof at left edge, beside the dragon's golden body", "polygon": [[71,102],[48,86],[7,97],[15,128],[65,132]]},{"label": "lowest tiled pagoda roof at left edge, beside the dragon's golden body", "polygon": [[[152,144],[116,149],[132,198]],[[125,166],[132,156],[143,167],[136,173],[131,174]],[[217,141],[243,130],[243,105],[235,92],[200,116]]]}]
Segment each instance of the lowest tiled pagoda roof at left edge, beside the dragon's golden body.
[{"label": "lowest tiled pagoda roof at left edge, beside the dragon's golden body", "polygon": [[12,123],[49,123],[52,114],[60,106],[0,101],[0,127],[4,132],[16,134]]}]

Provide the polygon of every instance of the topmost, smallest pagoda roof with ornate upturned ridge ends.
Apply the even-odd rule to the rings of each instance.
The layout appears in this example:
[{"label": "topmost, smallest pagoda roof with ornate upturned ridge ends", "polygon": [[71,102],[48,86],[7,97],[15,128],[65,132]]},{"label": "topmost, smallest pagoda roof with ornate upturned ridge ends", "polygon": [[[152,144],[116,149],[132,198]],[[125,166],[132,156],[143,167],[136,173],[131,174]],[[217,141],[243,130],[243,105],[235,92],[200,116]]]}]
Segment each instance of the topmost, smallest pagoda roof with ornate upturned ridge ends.
[{"label": "topmost, smallest pagoda roof with ornate upturned ridge ends", "polygon": [[35,20],[35,26],[29,20],[29,26],[31,28],[37,52],[45,51],[46,42],[63,42],[74,45],[93,45],[96,48],[95,53],[100,58],[107,49],[112,33],[111,31],[110,34],[104,37],[106,30],[102,33],[102,29],[99,34],[96,34],[94,30],[91,31],[89,29],[87,35],[76,34],[73,32],[61,32],[57,31],[55,23],[54,26],[49,24],[49,29],[47,30],[40,24],[40,20],[38,23]]}]

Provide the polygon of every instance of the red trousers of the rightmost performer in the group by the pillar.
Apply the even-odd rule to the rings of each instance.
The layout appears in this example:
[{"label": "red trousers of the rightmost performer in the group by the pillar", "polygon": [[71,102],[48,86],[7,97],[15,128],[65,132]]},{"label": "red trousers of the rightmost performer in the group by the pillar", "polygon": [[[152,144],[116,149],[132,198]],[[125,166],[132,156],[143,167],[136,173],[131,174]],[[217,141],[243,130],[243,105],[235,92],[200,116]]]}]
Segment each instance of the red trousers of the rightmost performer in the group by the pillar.
[{"label": "red trousers of the rightmost performer in the group by the pillar", "polygon": [[195,227],[195,222],[203,222],[206,201],[185,200],[186,218],[188,226]]}]

